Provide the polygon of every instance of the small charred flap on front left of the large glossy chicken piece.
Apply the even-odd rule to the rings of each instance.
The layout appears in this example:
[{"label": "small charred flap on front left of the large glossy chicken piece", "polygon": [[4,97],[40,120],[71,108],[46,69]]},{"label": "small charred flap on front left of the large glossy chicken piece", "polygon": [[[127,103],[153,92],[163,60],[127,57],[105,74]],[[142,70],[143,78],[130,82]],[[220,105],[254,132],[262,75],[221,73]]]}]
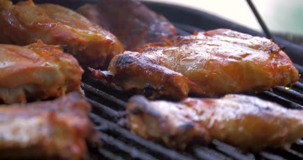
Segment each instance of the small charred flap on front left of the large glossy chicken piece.
[{"label": "small charred flap on front left of the large glossy chicken piece", "polygon": [[157,64],[145,63],[128,53],[140,54],[125,51],[115,56],[107,71],[88,69],[94,79],[109,88],[129,94],[145,95],[148,99],[180,100],[186,98],[188,93],[203,93],[197,84],[184,75]]}]

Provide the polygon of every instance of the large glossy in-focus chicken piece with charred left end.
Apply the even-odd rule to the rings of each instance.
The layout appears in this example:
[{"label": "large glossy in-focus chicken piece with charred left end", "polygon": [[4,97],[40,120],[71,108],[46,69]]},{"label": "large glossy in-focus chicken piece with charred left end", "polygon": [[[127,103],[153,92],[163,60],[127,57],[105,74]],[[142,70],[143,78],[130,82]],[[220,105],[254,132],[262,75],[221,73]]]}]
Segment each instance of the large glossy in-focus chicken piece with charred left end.
[{"label": "large glossy in-focus chicken piece with charred left end", "polygon": [[[94,77],[121,90],[150,96],[187,97],[259,92],[291,86],[299,79],[290,58],[270,39],[228,29],[178,36],[115,56],[108,71]],[[116,87],[116,88],[119,88]],[[147,94],[146,94],[147,93]]]}]

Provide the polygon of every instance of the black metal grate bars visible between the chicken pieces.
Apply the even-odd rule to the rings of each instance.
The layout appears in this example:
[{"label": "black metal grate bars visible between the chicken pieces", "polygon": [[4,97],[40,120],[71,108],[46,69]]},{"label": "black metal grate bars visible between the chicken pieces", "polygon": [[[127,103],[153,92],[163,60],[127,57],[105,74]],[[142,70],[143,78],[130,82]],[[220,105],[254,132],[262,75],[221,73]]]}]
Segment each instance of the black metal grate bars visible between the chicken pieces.
[{"label": "black metal grate bars visible between the chicken pieces", "polygon": [[[186,25],[185,27],[187,30],[190,28]],[[181,34],[187,33],[182,29],[178,29]],[[303,74],[303,67],[297,64],[295,66]],[[302,82],[303,79],[300,78],[300,82],[291,89],[274,87],[256,96],[287,108],[303,109]],[[106,159],[303,159],[303,140],[292,144],[287,150],[264,150],[259,153],[241,153],[237,148],[217,140],[209,146],[193,146],[184,152],[168,149],[163,144],[150,142],[123,127],[119,120],[125,115],[124,110],[130,95],[112,91],[89,75],[84,75],[81,87],[93,106],[90,116],[105,143],[97,154]]]}]

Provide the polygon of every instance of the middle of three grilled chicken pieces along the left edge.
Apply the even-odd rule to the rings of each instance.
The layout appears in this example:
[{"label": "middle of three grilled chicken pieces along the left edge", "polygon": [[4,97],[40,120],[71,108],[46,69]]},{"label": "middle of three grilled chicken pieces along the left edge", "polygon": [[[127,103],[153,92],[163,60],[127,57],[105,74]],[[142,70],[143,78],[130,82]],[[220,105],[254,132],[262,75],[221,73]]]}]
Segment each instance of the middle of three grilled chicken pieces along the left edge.
[{"label": "middle of three grilled chicken pieces along the left edge", "polygon": [[83,69],[60,46],[41,41],[20,47],[0,44],[0,101],[26,102],[80,91]]}]

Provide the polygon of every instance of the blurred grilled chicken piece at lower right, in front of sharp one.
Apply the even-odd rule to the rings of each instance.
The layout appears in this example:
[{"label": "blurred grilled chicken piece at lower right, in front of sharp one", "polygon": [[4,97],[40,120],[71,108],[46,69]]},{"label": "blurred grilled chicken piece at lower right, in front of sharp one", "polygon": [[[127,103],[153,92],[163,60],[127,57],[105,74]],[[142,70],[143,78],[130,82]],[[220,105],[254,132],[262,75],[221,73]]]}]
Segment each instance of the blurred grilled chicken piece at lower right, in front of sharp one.
[{"label": "blurred grilled chicken piece at lower right, in front of sharp one", "polygon": [[303,137],[303,111],[247,95],[186,98],[180,103],[149,102],[134,96],[127,118],[132,132],[179,149],[218,139],[243,150],[259,151],[287,147]]}]

